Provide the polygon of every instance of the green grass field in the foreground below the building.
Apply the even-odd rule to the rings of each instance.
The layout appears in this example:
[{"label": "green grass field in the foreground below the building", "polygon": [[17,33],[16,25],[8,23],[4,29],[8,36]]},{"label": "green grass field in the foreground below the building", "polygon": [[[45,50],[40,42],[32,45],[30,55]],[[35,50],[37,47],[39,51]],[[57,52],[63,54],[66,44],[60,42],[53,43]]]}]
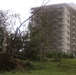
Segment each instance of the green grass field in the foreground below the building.
[{"label": "green grass field in the foreground below the building", "polygon": [[76,59],[63,59],[61,62],[34,62],[36,70],[25,72],[0,72],[0,75],[76,75]]}]

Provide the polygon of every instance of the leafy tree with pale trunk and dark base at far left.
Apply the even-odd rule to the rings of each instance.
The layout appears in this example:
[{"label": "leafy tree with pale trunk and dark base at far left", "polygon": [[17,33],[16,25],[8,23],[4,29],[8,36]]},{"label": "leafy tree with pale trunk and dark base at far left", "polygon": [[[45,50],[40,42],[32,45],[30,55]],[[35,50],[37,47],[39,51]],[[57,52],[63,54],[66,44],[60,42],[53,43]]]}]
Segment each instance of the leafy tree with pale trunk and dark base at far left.
[{"label": "leafy tree with pale trunk and dark base at far left", "polygon": [[10,16],[9,11],[0,10],[0,42],[1,42],[0,43],[0,49],[1,49],[0,70],[8,67],[7,64],[16,65],[14,62],[12,62],[13,60],[11,58],[11,52],[12,52],[13,47],[11,50],[8,50],[11,44],[11,41],[13,40],[13,37],[15,36],[14,34],[12,36],[11,35],[12,33],[9,32],[8,30],[8,28],[10,28],[10,26],[12,25],[11,21],[13,21],[13,23],[15,24],[15,21],[13,19],[11,20],[13,16],[15,16],[14,18],[16,18],[15,14],[11,14]]}]

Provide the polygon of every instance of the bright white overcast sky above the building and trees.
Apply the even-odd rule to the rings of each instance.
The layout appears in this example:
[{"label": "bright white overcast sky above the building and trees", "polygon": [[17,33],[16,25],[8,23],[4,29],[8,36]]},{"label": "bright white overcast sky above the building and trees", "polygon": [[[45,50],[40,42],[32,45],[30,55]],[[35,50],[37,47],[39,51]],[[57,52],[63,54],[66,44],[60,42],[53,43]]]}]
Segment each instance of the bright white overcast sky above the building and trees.
[{"label": "bright white overcast sky above the building and trees", "polygon": [[[28,17],[31,7],[40,6],[43,0],[0,0],[0,9],[13,10]],[[48,0],[45,0],[47,2]],[[48,4],[76,3],[76,0],[50,0]]]}]

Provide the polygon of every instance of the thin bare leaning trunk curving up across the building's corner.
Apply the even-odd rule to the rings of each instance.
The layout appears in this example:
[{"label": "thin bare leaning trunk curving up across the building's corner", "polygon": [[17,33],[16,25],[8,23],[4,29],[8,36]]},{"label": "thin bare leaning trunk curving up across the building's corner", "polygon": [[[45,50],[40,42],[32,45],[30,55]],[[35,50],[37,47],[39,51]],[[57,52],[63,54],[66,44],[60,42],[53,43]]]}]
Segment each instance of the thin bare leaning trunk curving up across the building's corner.
[{"label": "thin bare leaning trunk curving up across the building's corner", "polygon": [[13,40],[12,40],[10,46],[8,47],[8,51],[11,50],[11,52],[8,52],[8,54],[10,53],[11,56],[12,56],[12,54],[14,54],[14,53],[12,53],[12,52],[13,52],[13,51],[12,51],[12,48],[13,48],[14,44],[16,43],[16,38],[17,38],[18,31],[19,31],[20,27],[21,27],[26,21],[30,20],[35,14],[37,14],[37,12],[40,11],[41,8],[43,8],[43,6],[45,6],[49,1],[50,1],[50,0],[48,0],[48,1],[44,4],[44,0],[43,0],[43,3],[42,3],[42,5],[41,5],[41,7],[40,7],[39,9],[36,10],[36,11],[34,12],[34,14],[31,15],[29,18],[27,18],[26,20],[24,20],[23,22],[20,23],[20,25],[18,26],[18,28],[17,28],[16,31],[15,31],[15,36],[13,37]]}]

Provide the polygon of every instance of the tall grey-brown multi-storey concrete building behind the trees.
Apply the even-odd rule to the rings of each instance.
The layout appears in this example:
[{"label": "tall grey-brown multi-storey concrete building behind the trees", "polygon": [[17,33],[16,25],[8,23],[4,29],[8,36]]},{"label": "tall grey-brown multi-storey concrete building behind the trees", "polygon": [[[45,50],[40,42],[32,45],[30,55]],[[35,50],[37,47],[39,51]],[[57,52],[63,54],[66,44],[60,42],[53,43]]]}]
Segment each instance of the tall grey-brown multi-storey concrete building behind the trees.
[{"label": "tall grey-brown multi-storey concrete building behind the trees", "polygon": [[[76,5],[53,4],[32,8],[33,26],[45,25],[48,50],[76,52]],[[44,23],[43,23],[44,22]]]}]

